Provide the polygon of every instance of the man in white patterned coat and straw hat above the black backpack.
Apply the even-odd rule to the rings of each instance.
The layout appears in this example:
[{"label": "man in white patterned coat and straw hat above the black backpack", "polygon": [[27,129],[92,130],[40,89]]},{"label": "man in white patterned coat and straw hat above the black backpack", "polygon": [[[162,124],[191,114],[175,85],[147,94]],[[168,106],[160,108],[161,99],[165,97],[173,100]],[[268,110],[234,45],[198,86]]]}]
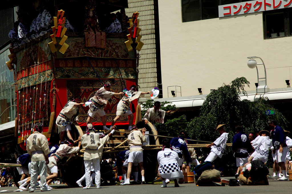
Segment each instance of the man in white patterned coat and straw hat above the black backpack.
[{"label": "man in white patterned coat and straw hat above the black backpack", "polygon": [[269,149],[273,150],[273,144],[272,140],[270,139],[270,132],[267,130],[261,130],[260,133],[260,138],[256,142],[256,150],[254,151],[254,156],[250,156],[248,158],[248,162],[254,161],[254,160],[259,160],[262,161],[263,163],[267,163],[268,161],[268,156],[269,156]]}]

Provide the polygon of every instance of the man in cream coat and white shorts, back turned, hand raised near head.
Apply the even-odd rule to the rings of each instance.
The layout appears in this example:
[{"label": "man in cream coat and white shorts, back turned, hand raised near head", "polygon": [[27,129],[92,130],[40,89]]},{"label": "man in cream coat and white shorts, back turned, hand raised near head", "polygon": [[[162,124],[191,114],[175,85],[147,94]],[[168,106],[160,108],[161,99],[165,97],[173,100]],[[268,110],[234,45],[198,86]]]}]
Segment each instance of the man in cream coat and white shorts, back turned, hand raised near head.
[{"label": "man in cream coat and white shorts, back turned, hand raised near head", "polygon": [[131,133],[128,135],[128,145],[130,148],[130,154],[128,158],[128,171],[127,171],[127,180],[121,185],[130,184],[130,176],[132,172],[133,163],[138,163],[141,170],[142,184],[146,184],[144,177],[144,168],[143,168],[143,149],[142,142],[147,142],[145,137],[146,128],[142,129],[142,133],[138,130],[137,126],[132,127]]}]

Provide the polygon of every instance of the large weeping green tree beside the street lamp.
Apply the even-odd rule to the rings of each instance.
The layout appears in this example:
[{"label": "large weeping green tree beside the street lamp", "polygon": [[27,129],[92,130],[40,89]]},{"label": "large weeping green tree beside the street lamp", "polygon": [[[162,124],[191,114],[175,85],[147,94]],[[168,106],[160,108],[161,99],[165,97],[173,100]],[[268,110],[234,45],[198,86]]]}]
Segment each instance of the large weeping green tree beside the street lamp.
[{"label": "large weeping green tree beside the street lamp", "polygon": [[[229,85],[224,84],[213,90],[204,101],[200,116],[192,119],[187,126],[186,130],[190,137],[194,140],[213,142],[219,136],[219,133],[215,132],[219,124],[226,124],[229,133],[228,143],[232,143],[235,126],[239,124],[246,128],[246,133],[256,129],[270,131],[267,124],[269,117],[265,115],[265,111],[271,109],[276,112],[272,118],[278,121],[279,126],[285,128],[288,121],[278,110],[269,105],[268,98],[259,98],[257,102],[240,100],[240,94],[247,95],[244,90],[245,85],[249,87],[249,82],[245,77],[240,77]],[[197,154],[206,158],[209,151],[210,149],[202,148],[197,150]],[[223,157],[229,158],[226,160],[227,165],[234,167],[235,158],[232,155],[231,147],[227,147]]]}]

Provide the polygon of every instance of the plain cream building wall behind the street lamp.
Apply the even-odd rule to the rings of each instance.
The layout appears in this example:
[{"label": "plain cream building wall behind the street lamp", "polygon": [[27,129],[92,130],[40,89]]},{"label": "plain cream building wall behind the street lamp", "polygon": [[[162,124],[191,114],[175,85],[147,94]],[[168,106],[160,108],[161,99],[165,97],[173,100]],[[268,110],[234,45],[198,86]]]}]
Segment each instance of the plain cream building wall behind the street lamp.
[{"label": "plain cream building wall behind the street lamp", "polygon": [[[270,89],[287,87],[292,37],[264,40],[263,13],[183,23],[181,1],[158,3],[164,98],[167,86],[181,86],[182,96],[198,95],[197,88],[208,94],[236,77],[251,82],[247,91],[256,90],[256,69],[247,66],[250,56],[263,59]],[[263,76],[262,65],[258,69]]]}]

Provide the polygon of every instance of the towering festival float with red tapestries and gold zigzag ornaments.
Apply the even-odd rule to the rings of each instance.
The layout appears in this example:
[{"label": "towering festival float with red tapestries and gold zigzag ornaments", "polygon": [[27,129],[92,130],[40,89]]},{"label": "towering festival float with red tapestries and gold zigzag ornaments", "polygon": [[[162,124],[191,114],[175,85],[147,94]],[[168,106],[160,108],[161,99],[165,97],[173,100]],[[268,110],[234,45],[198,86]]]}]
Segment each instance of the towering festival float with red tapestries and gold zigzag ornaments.
[{"label": "towering festival float with red tapestries and gold zigzag ornaments", "polygon": [[[49,1],[52,2],[52,1]],[[67,2],[67,1],[64,1]],[[71,1],[68,1],[71,3]],[[78,9],[69,3],[51,3],[50,26],[44,35],[25,42],[18,47],[11,47],[8,68],[14,71],[15,96],[17,100],[17,118],[15,137],[22,150],[26,150],[26,140],[34,131],[34,125],[43,123],[43,134],[51,145],[59,143],[55,119],[67,101],[74,96],[81,96],[87,102],[103,83],[111,83],[111,91],[119,93],[131,85],[138,85],[139,51],[142,49],[141,28],[138,12],[126,20],[127,1],[76,1]],[[76,3],[75,2],[75,3]],[[83,16],[82,7],[85,10]],[[27,5],[19,5],[20,10]],[[62,9],[61,9],[62,8]],[[121,12],[121,33],[105,33],[101,29],[104,13]],[[20,12],[21,13],[21,12]],[[44,13],[44,12],[43,12]],[[70,17],[71,16],[71,17]],[[97,17],[98,16],[98,17]],[[74,18],[79,21],[74,23]],[[98,18],[98,23],[97,23]],[[75,24],[76,31],[69,31],[66,22]],[[81,21],[81,22],[80,22]],[[83,23],[82,23],[83,21]],[[79,26],[77,26],[79,24]],[[81,29],[78,31],[78,29]],[[152,94],[152,97],[157,95]],[[117,104],[122,96],[113,96],[105,107],[107,126],[116,116]],[[134,100],[134,109],[138,101]],[[133,110],[134,122],[141,120],[139,105]],[[77,140],[83,135],[88,117],[88,106],[79,108],[79,125],[72,124],[72,137]],[[100,117],[94,117],[93,125],[99,133],[102,123]],[[111,137],[103,152],[103,159],[115,158],[115,154],[128,149],[126,139],[128,116],[121,117],[116,123],[118,131]],[[149,134],[157,134],[152,124],[148,124]],[[124,132],[124,133],[120,133]],[[150,145],[158,145],[158,137],[149,136]],[[118,147],[117,147],[118,146]],[[82,150],[75,157],[65,158],[59,165],[60,177],[69,186],[77,186],[76,181],[84,174]],[[152,181],[157,175],[157,150],[144,151],[145,180]],[[81,170],[72,170],[81,169]],[[101,166],[101,174],[112,176],[112,167]],[[106,170],[104,170],[106,169]],[[106,172],[105,172],[106,171]],[[15,170],[15,182],[20,178]],[[102,176],[103,179],[107,177]]]}]

